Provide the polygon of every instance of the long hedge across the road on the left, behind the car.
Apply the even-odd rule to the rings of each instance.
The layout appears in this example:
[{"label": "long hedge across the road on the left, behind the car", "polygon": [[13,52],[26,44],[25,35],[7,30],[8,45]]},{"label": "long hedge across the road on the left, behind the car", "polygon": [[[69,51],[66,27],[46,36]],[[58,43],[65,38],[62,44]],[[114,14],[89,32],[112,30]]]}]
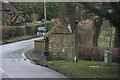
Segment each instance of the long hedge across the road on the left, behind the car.
[{"label": "long hedge across the road on the left, behind the car", "polygon": [[13,37],[19,37],[24,35],[36,35],[38,30],[37,27],[46,26],[47,31],[53,27],[51,21],[42,22],[39,24],[32,24],[26,26],[3,26],[2,27],[2,39],[8,40]]}]

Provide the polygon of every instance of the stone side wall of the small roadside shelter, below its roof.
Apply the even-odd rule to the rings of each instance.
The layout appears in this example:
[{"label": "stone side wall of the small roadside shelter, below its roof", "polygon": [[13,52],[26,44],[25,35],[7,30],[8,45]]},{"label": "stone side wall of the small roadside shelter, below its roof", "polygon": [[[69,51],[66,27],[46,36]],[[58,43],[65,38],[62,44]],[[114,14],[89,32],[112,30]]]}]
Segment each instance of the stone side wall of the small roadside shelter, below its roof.
[{"label": "stone side wall of the small roadside shelter, below its roof", "polygon": [[49,53],[52,60],[72,60],[71,34],[51,34],[49,36]]}]

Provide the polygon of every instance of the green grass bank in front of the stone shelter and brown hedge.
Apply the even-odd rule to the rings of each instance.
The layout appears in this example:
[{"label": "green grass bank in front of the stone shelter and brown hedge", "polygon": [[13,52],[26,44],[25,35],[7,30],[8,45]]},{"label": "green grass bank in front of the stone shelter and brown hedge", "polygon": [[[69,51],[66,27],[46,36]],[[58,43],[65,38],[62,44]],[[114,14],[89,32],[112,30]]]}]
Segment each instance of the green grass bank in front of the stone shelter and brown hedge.
[{"label": "green grass bank in front of the stone shelter and brown hedge", "polygon": [[[41,63],[40,63],[41,64]],[[47,61],[42,65],[58,70],[73,78],[118,78],[118,64],[108,67],[97,61]]]}]

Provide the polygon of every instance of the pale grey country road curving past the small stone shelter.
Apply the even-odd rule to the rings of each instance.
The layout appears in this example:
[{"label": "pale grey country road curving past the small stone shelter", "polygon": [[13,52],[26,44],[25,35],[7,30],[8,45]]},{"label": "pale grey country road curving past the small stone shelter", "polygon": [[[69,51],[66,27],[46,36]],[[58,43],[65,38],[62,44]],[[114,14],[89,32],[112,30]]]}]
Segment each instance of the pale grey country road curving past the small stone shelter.
[{"label": "pale grey country road curving past the small stone shelter", "polygon": [[[24,53],[34,47],[34,39],[14,42],[0,46],[3,78],[66,78],[66,76],[43,66],[35,65],[24,59]],[[1,59],[0,59],[1,60]],[[30,80],[30,79],[29,79]],[[31,79],[32,80],[32,79]]]}]

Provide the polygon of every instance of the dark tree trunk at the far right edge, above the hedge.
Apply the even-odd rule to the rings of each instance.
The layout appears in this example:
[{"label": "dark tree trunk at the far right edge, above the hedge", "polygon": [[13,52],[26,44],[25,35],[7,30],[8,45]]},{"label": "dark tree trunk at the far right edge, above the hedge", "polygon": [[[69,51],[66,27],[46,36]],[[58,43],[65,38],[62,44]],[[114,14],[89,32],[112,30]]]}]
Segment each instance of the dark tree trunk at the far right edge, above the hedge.
[{"label": "dark tree trunk at the far right edge, above the hedge", "polygon": [[114,48],[120,48],[120,27],[115,27]]}]

